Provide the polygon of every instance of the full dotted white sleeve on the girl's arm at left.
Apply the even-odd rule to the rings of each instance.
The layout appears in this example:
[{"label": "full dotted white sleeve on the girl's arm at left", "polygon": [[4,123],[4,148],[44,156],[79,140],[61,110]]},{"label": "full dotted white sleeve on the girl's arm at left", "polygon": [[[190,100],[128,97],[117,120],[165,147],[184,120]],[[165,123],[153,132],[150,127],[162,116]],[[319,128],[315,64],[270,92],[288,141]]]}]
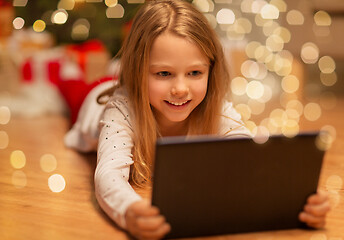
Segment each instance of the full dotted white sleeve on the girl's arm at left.
[{"label": "full dotted white sleeve on the girl's arm at left", "polygon": [[100,121],[94,178],[99,205],[122,228],[126,228],[124,215],[127,208],[141,199],[128,182],[130,165],[133,164],[132,136],[127,99],[114,97]]}]

